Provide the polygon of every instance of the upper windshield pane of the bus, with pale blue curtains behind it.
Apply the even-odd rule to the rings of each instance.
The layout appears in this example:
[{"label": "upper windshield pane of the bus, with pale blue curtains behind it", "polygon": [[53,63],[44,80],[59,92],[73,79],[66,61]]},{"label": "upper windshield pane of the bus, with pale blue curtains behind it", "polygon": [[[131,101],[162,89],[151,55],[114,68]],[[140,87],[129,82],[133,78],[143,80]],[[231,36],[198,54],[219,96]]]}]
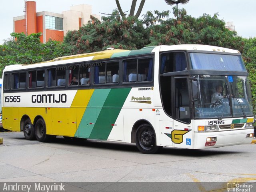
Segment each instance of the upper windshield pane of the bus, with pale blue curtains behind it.
[{"label": "upper windshield pane of the bus, with pale blue curtains behind it", "polygon": [[190,53],[190,58],[194,70],[246,71],[240,55]]}]

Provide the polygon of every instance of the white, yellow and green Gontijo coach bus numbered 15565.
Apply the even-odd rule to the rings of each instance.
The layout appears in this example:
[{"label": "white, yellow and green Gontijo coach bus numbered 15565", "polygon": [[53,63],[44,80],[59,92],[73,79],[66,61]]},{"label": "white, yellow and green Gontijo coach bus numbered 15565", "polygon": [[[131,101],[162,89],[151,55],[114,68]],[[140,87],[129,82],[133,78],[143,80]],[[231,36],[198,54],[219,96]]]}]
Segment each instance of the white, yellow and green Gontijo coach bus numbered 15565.
[{"label": "white, yellow and green Gontijo coach bus numbered 15565", "polygon": [[[216,89],[220,98],[213,101]],[[55,136],[207,149],[250,144],[252,100],[237,50],[205,45],[105,50],[6,66],[3,126]]]}]

